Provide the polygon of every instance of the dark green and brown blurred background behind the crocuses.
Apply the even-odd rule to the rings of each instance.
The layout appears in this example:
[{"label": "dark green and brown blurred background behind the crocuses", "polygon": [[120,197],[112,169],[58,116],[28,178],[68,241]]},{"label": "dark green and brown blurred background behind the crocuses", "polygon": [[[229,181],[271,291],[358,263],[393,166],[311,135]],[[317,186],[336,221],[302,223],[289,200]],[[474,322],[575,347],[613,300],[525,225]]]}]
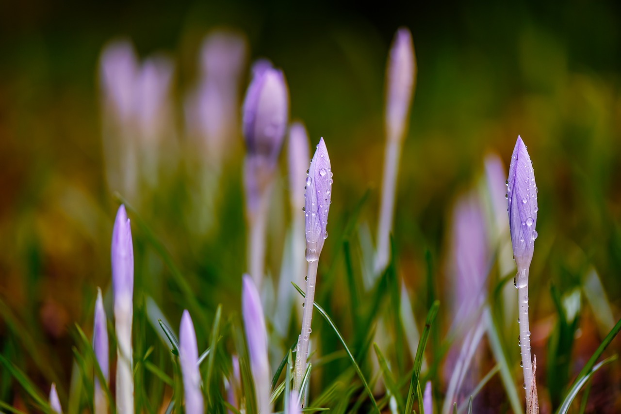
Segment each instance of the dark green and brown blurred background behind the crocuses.
[{"label": "dark green and brown blurred background behind the crocuses", "polygon": [[[443,263],[456,196],[477,185],[486,155],[499,155],[506,171],[520,134],[540,190],[530,276],[537,354],[545,355],[558,319],[551,286],[568,294],[596,272],[597,292],[607,295],[599,297],[608,305],[603,322],[588,302],[582,305],[569,349],[575,374],[621,308],[616,1],[368,8],[351,1],[0,2],[0,353],[42,389],[53,378],[66,389],[75,343],[71,326],[90,329],[97,286],[107,292],[111,309],[110,242],[121,197],[132,207],[137,292],[153,297],[177,326],[187,305],[170,259],[196,292],[205,320],[220,303],[225,314],[238,312],[240,276],[247,270],[239,108],[257,58],[284,71],[291,118],[306,124],[311,148],[319,137],[329,148],[331,237],[321,266],[340,249],[338,235],[368,189],[360,223],[374,229],[385,143],[384,73],[401,26],[414,38],[417,84],[401,158],[394,243],[419,326],[428,307],[427,295],[417,295],[428,289],[426,256],[433,261],[438,295],[448,289]],[[200,132],[193,132],[196,119],[193,124],[188,109],[201,85],[204,38],[214,30],[242,39],[238,86],[232,89],[237,101],[229,102],[238,110],[231,115],[237,127],[217,160],[209,155],[215,150],[205,150],[193,136]],[[137,61],[170,63],[158,66],[167,79],[166,105],[150,115],[163,120],[155,134],[161,136],[137,127],[141,132],[134,135],[144,135],[146,144],[132,151],[146,172],[137,173],[138,182],[129,187],[111,173],[126,166],[114,165],[119,158],[110,143],[129,139],[119,140],[118,133],[116,141],[110,138],[115,109],[107,101],[101,54],[115,41],[133,45]],[[119,86],[119,93],[131,86]],[[153,153],[149,143],[156,143]],[[291,216],[284,158],[266,264],[275,275]],[[216,177],[216,183],[204,182],[204,176]],[[346,288],[341,270],[330,274],[330,286]],[[332,309],[338,320],[345,312],[337,299]],[[440,315],[443,332],[450,320],[446,312]],[[351,328],[342,325],[347,335]],[[197,335],[204,342],[209,326],[197,328]],[[620,349],[619,340],[614,347]],[[509,349],[519,358],[517,347]],[[545,384],[546,368],[537,372],[538,383]],[[589,404],[610,407],[598,412],[621,409],[620,376],[617,363],[596,382]],[[13,401],[17,389],[6,372],[0,374],[0,399]]]}]

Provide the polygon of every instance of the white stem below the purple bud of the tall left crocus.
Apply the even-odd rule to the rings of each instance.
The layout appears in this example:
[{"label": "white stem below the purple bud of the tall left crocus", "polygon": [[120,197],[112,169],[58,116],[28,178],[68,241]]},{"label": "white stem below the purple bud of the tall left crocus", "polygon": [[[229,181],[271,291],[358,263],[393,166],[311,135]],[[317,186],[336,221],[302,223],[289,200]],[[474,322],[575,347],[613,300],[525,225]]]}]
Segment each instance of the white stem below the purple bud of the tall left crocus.
[{"label": "white stem below the purple bud of the tall left crocus", "polygon": [[120,298],[114,303],[114,321],[117,335],[116,405],[119,414],[134,414],[133,313],[131,298]]}]

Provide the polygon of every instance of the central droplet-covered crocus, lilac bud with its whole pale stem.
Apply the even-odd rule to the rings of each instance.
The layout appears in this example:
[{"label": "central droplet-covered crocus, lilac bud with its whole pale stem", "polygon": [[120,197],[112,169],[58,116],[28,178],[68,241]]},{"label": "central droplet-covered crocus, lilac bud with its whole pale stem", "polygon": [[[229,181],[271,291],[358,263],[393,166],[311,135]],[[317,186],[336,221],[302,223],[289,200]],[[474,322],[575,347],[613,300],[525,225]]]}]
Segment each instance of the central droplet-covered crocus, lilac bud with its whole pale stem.
[{"label": "central droplet-covered crocus, lilac bud with its whole pale stem", "polygon": [[[330,157],[325,147],[324,138],[320,138],[317,150],[311,160],[309,176],[306,178],[306,201],[304,203],[306,231],[306,260],[308,261],[306,276],[306,297],[302,312],[302,330],[299,336],[299,351],[296,354],[296,388],[301,385],[302,376],[306,371],[306,360],[309,354],[311,336],[312,308],[315,300],[315,283],[317,282],[317,265],[319,255],[328,237],[328,213],[332,202],[332,168]],[[302,391],[300,391],[302,392]]]}]

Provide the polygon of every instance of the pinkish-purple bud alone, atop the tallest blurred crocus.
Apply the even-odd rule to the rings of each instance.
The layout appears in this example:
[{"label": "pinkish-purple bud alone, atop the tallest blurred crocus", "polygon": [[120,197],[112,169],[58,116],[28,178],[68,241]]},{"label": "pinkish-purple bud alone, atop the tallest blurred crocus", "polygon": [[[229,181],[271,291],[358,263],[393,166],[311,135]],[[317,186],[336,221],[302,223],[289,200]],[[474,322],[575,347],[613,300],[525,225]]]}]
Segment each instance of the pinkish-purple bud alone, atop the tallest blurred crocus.
[{"label": "pinkish-purple bud alone, atop the tallest blurred crocus", "polygon": [[386,136],[401,140],[407,125],[416,76],[414,43],[406,27],[392,41],[386,76]]}]

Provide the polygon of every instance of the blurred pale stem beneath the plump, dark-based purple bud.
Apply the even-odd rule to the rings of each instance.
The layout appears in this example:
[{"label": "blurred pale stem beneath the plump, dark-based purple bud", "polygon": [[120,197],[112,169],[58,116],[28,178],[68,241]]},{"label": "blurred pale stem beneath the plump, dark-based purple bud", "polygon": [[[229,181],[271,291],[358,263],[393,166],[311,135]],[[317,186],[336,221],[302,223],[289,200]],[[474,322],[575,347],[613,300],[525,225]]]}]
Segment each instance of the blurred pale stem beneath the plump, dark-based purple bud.
[{"label": "blurred pale stem beneath the plump, dark-based purple bud", "polygon": [[265,272],[265,230],[268,220],[268,204],[270,200],[271,186],[261,194],[258,209],[252,212],[248,220],[250,226],[248,235],[248,270],[257,289],[261,290],[263,272]]}]

